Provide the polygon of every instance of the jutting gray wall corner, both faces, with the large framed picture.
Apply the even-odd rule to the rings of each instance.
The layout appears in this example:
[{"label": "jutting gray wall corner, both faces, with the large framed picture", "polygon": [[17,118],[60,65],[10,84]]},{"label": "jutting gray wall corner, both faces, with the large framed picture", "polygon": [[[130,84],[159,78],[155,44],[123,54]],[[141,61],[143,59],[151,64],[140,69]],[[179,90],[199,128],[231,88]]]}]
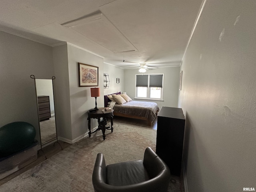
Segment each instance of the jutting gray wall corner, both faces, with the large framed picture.
[{"label": "jutting gray wall corner, both faces, with the large framed picture", "polygon": [[[78,62],[99,67],[100,97],[97,98],[97,106],[103,107],[103,58],[70,44],[54,47],[53,53],[58,138],[74,143],[88,133],[87,112],[95,107],[95,98],[90,94],[91,87],[79,87]],[[91,128],[97,126],[97,120],[92,119]]]}]

